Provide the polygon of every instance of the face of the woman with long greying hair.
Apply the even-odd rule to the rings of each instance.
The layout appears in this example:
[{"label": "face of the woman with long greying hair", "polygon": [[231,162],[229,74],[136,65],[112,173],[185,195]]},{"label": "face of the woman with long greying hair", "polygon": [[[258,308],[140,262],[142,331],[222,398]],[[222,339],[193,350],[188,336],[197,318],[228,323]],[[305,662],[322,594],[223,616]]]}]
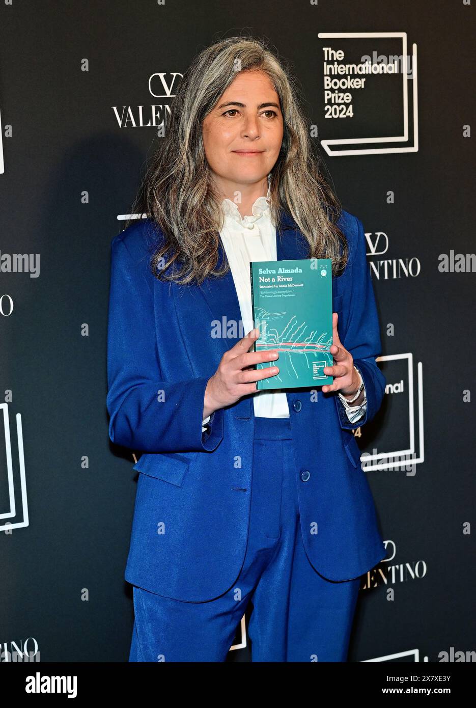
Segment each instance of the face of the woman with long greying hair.
[{"label": "face of the woman with long greying hair", "polygon": [[265,178],[283,139],[279,96],[265,72],[240,72],[203,121],[205,155],[216,183]]}]

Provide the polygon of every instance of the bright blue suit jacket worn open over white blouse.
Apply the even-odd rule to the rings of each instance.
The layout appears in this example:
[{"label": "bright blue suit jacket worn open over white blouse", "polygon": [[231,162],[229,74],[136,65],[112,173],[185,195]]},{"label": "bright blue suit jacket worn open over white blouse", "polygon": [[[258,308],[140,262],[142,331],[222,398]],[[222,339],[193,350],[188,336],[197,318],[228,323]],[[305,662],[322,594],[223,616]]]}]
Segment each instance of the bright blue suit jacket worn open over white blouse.
[{"label": "bright blue suit jacket worn open over white blouse", "polygon": [[[365,573],[385,557],[373,498],[352,430],[381,406],[385,377],[364,229],[342,212],[349,263],[332,282],[339,338],[364,379],[367,409],[351,423],[336,392],[286,392],[294,442],[303,544],[332,581]],[[277,259],[306,258],[307,241],[291,217],[277,232]],[[233,586],[245,557],[250,513],[252,395],[215,411],[202,434],[207,381],[239,337],[212,338],[214,320],[240,322],[231,271],[180,286],[159,282],[149,257],[161,239],[151,219],[111,244],[108,322],[109,435],[143,452],[124,577],[170,598],[211,600]],[[224,258],[221,248],[220,258]],[[237,469],[236,459],[241,466]],[[300,474],[310,472],[304,484]],[[239,491],[246,489],[246,491]],[[318,524],[318,532],[311,532]]]}]

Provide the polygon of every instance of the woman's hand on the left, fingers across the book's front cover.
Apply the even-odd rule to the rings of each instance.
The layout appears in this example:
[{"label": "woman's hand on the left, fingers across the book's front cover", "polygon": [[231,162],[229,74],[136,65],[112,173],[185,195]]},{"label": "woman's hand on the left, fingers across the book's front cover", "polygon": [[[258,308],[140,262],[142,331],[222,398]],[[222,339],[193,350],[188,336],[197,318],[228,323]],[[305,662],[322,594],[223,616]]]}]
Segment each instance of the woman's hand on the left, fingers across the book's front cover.
[{"label": "woman's hand on the left, fingers across the book's front cover", "polygon": [[203,418],[211,416],[211,413],[220,408],[236,403],[242,396],[256,393],[256,381],[277,375],[278,367],[258,370],[252,368],[260,362],[279,358],[277,350],[248,351],[259,336],[258,329],[252,329],[221,357],[219,367],[209,378],[205,389]]}]

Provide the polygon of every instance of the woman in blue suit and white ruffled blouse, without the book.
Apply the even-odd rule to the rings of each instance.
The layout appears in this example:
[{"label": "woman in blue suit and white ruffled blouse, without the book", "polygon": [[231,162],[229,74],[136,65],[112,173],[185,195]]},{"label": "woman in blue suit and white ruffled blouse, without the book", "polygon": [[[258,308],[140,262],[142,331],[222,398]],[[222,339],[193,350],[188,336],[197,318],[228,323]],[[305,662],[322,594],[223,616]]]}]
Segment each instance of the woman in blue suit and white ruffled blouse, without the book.
[{"label": "woman in blue suit and white ruffled blouse, without the book", "polygon": [[[225,661],[250,601],[252,661],[346,661],[385,556],[352,435],[385,388],[364,231],[296,93],[259,40],[202,51],[134,204],[149,217],[112,241],[109,433],[142,453],[129,661]],[[279,350],[252,352],[250,261],[324,257],[333,383],[257,392]]]}]

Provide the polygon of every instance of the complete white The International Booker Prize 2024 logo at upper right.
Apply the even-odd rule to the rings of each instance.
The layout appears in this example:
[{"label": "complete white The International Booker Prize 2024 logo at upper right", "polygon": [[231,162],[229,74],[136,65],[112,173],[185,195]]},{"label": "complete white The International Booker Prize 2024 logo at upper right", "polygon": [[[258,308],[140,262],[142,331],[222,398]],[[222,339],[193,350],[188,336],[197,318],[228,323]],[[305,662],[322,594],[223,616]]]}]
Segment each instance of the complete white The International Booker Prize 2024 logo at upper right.
[{"label": "complete white The International Booker Prize 2024 logo at upper right", "polygon": [[[321,32],[318,38],[325,152],[418,152],[417,45],[410,56],[407,33]],[[315,125],[311,137],[318,137]]]}]

